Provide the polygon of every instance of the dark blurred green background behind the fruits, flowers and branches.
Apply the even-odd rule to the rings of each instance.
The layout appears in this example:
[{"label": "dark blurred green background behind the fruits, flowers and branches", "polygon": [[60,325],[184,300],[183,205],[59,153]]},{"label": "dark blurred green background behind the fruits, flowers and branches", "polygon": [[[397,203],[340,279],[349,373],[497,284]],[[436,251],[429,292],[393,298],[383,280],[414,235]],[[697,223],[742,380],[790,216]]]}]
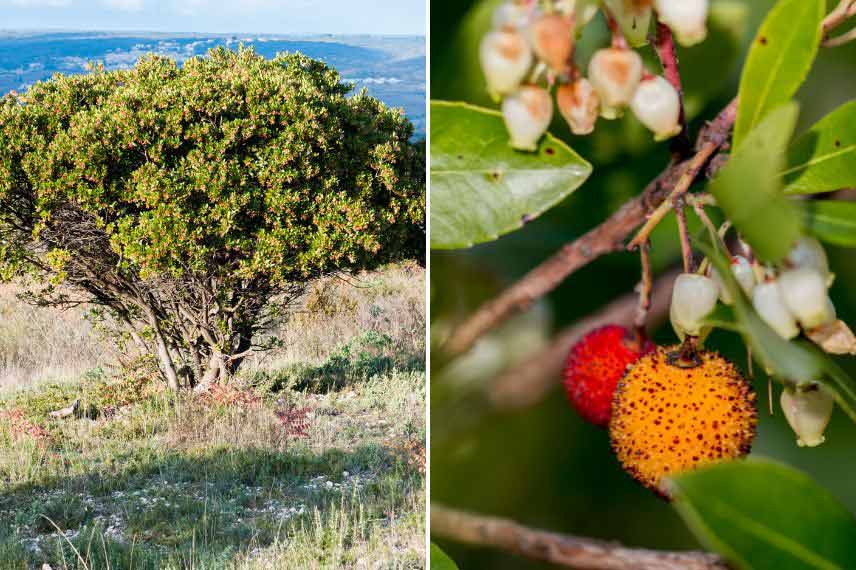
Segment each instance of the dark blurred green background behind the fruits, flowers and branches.
[{"label": "dark blurred green background behind the fruits, flowers and branches", "polygon": [[[693,134],[736,92],[747,45],[773,3],[714,1],[715,17],[708,40],[679,52]],[[432,99],[496,107],[484,92],[477,56],[478,40],[495,4],[431,2]],[[587,54],[606,41],[603,22],[591,24],[580,41],[579,60],[587,61]],[[646,55],[652,57],[651,53]],[[653,63],[649,68],[657,69]],[[798,94],[798,132],[854,95],[856,45],[822,50]],[[615,254],[596,260],[527,314],[507,323],[464,360],[450,365],[436,350],[454,323],[562,244],[603,221],[639,193],[669,160],[668,145],[654,144],[650,134],[630,116],[599,122],[590,137],[571,135],[560,117],[550,130],[592,162],[592,177],[561,205],[517,232],[467,250],[431,253],[432,501],[627,545],[698,548],[675,511],[621,470],[610,451],[606,431],[582,422],[571,411],[559,378],[549,397],[522,412],[492,412],[482,396],[496,372],[548,342],[555,331],[630,292],[639,277],[637,256]],[[831,246],[827,252],[837,274],[832,296],[839,316],[856,326],[854,252]],[[652,254],[656,271],[679,262],[673,220],[658,228]],[[654,337],[661,343],[675,342],[668,325],[656,330]],[[744,348],[736,335],[717,331],[707,346],[746,369]],[[856,358],[843,359],[841,364],[856,376]],[[814,449],[798,448],[778,407],[778,385],[774,384],[773,417],[766,412],[767,381],[763,375],[756,377],[755,388],[762,413],[753,454],[802,469],[856,511],[856,425],[836,410],[827,442]],[[437,542],[467,570],[548,567],[504,552]]]}]

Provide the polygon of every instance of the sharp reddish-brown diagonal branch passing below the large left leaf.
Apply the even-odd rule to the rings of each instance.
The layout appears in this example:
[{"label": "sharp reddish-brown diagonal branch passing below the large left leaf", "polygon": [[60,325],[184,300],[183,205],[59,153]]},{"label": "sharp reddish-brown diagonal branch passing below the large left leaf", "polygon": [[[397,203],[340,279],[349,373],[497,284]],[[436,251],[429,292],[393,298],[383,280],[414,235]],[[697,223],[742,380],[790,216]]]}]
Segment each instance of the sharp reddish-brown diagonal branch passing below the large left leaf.
[{"label": "sharp reddish-brown diagonal branch passing below the large left leaf", "polygon": [[[642,194],[625,203],[606,221],[576,241],[563,246],[499,296],[484,303],[469,319],[452,331],[443,349],[450,356],[467,351],[486,332],[516,312],[526,309],[576,270],[601,255],[622,251],[627,236],[641,225],[651,212],[664,204],[664,200],[674,193],[673,189],[678,183],[688,188],[715,151],[725,144],[734,123],[735,109],[736,99],[716,119],[705,125],[696,142],[696,156],[671,164],[648,184]],[[666,211],[668,208],[667,204]]]}]

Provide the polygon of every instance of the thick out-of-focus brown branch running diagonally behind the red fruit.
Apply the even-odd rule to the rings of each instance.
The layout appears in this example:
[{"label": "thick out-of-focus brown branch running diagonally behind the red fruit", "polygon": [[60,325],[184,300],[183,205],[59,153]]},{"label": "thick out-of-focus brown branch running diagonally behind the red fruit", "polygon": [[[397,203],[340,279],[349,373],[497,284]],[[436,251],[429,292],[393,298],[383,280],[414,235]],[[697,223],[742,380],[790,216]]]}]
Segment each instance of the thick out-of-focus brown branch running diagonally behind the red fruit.
[{"label": "thick out-of-focus brown branch running diagonally behind the red fruit", "polygon": [[[672,282],[678,271],[669,271],[654,282],[648,323],[656,325],[669,314]],[[534,353],[517,366],[503,372],[489,388],[489,399],[499,410],[516,410],[533,406],[559,385],[568,351],[594,328],[607,324],[630,326],[638,310],[638,297],[628,293],[600,311],[577,321],[559,332],[549,346]]]}]

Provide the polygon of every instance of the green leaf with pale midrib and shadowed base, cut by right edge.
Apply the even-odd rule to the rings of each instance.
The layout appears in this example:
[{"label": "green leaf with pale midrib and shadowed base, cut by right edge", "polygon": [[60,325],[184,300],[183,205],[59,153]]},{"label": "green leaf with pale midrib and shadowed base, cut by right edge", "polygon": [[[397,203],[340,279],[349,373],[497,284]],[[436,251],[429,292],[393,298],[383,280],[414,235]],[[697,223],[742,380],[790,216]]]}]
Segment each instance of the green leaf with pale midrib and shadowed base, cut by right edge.
[{"label": "green leaf with pale midrib and shadowed base, cut by right edge", "polygon": [[800,135],[788,150],[785,192],[813,194],[856,186],[856,101]]}]

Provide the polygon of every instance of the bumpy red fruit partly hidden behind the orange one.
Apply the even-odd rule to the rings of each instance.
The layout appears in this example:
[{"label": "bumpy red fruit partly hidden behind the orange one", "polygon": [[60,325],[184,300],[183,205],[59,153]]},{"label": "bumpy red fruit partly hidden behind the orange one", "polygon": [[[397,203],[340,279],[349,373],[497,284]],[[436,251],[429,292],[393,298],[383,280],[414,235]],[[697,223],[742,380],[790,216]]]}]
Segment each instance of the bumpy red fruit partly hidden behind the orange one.
[{"label": "bumpy red fruit partly hidden behind the orange one", "polygon": [[565,392],[574,409],[596,426],[609,425],[612,397],[627,367],[655,349],[646,341],[641,347],[629,342],[624,327],[607,325],[577,342],[565,363]]}]

